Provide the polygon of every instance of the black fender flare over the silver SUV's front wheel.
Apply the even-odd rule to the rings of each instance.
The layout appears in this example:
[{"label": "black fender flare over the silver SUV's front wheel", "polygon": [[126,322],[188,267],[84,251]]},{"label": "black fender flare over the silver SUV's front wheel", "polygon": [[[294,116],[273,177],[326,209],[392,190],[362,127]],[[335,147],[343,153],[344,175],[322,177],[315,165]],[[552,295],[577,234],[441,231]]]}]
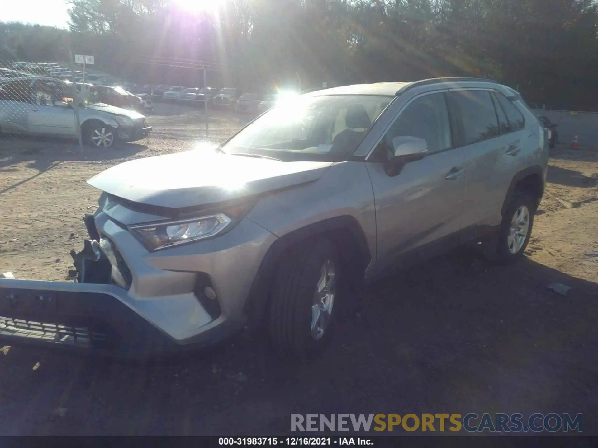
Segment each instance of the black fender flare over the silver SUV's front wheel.
[{"label": "black fender flare over the silver SUV's front wheel", "polygon": [[[358,250],[358,257],[361,260],[359,270],[361,271],[361,268],[363,268],[363,271],[361,271],[361,275],[363,275],[365,268],[370,264],[371,253],[364,231],[361,225],[359,225],[358,220],[353,216],[336,216],[312,223],[282,235],[282,237],[274,241],[264,256],[260,268],[258,268],[258,272],[246,297],[245,305],[243,306],[243,311],[248,318],[249,327],[258,326],[263,321],[269,299],[270,284],[274,272],[276,272],[279,257],[282,256],[285,250],[294,246],[294,244],[318,235],[327,234],[334,240],[335,237],[340,237],[346,231],[349,231],[351,237],[357,241],[358,247],[349,247],[349,245],[346,245],[346,248],[348,251]],[[356,277],[358,275],[353,276],[352,280],[357,280]]]}]

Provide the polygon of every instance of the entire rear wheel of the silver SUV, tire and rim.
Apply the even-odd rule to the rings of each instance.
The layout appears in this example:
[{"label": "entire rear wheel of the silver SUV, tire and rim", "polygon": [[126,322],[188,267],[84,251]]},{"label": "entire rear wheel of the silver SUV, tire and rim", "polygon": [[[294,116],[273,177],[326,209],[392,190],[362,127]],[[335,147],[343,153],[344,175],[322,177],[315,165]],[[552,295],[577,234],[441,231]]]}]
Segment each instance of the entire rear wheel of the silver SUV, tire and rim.
[{"label": "entire rear wheel of the silver SUV, tire and rim", "polygon": [[535,210],[534,202],[527,194],[517,193],[511,199],[499,231],[482,241],[484,254],[489,260],[507,264],[523,256],[532,235]]}]

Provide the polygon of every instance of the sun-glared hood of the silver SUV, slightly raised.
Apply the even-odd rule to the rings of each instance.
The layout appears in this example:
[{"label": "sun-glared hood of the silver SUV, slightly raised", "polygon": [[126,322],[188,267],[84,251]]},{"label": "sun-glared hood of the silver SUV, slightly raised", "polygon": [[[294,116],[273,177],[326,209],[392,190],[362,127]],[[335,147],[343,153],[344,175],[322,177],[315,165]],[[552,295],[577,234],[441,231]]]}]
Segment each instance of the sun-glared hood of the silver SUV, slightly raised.
[{"label": "sun-glared hood of the silver SUV, slightly raised", "polygon": [[87,183],[125,200],[183,208],[312,182],[330,165],[332,162],[282,162],[195,149],[124,162]]}]

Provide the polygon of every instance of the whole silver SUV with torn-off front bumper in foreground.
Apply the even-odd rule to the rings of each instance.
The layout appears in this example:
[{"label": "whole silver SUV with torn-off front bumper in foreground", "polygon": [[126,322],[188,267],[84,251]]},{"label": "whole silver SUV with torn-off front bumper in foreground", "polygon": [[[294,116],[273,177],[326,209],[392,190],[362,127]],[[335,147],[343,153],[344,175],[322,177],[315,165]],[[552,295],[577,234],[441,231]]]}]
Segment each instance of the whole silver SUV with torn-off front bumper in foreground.
[{"label": "whole silver SUV with torn-off front bumper in foreground", "polygon": [[[310,357],[364,279],[471,241],[496,262],[519,259],[546,137],[519,94],[484,79],[289,98],[218,148],[90,179],[103,193],[80,283],[0,280],[0,315],[21,307],[23,320],[87,331],[62,345],[127,355],[252,324],[281,354]],[[38,331],[56,342],[53,328]]]}]

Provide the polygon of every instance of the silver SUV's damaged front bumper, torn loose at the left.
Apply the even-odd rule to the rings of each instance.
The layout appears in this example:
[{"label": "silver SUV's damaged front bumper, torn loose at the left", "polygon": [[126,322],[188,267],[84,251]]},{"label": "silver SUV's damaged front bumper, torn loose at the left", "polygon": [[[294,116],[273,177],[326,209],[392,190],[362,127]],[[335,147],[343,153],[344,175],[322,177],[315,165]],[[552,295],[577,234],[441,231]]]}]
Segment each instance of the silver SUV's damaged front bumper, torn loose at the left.
[{"label": "silver SUV's damaged front bumper, torn loose at the left", "polygon": [[123,224],[147,216],[100,202],[84,219],[86,248],[72,253],[77,283],[0,279],[0,340],[144,358],[242,329],[274,235],[245,219],[221,238],[149,253]]}]

